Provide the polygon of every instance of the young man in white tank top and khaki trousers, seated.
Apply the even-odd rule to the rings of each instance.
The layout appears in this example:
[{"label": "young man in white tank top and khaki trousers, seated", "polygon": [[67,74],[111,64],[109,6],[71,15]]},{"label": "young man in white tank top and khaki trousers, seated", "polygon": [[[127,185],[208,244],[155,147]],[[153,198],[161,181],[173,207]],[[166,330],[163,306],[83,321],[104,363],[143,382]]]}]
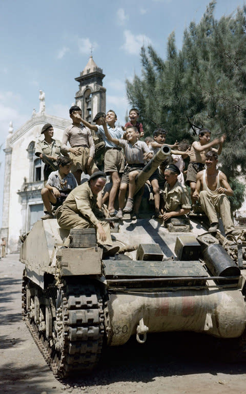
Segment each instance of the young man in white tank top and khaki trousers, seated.
[{"label": "young man in white tank top and khaki trousers, seated", "polygon": [[218,154],[215,151],[206,153],[206,170],[196,175],[196,190],[193,199],[200,201],[202,210],[209,218],[209,232],[216,232],[218,228],[218,215],[220,216],[224,232],[226,234],[238,235],[231,218],[231,205],[227,195],[233,195],[233,190],[227,181],[227,176],[219,171],[217,167]]}]

